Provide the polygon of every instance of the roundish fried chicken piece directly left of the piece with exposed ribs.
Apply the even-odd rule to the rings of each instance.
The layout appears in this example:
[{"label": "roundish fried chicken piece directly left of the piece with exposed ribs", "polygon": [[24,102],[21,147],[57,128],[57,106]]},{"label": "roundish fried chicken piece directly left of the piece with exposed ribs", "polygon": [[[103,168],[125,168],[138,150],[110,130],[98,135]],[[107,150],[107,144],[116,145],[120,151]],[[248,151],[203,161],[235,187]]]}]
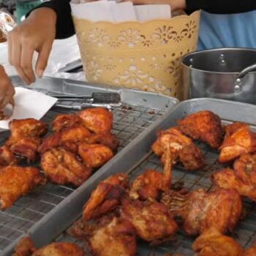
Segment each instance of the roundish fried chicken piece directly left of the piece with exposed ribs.
[{"label": "roundish fried chicken piece directly left of the piece with exposed ribs", "polygon": [[167,207],[157,201],[124,198],[121,216],[135,227],[138,236],[152,245],[173,238],[178,229]]}]

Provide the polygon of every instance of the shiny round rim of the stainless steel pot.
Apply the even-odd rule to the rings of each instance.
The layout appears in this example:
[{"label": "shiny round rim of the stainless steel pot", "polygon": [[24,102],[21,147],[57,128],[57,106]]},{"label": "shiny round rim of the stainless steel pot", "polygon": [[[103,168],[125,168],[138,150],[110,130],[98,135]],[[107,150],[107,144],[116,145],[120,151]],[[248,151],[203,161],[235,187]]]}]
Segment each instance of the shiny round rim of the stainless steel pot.
[{"label": "shiny round rim of the stainless steel pot", "polygon": [[[246,51],[252,51],[252,52],[255,52],[256,54],[256,49],[255,48],[241,48],[241,47],[230,47],[230,48],[212,48],[212,49],[207,49],[207,50],[195,50],[191,53],[187,53],[186,55],[184,55],[181,59],[181,66],[183,67],[186,67],[186,68],[189,68],[191,70],[195,70],[195,71],[198,71],[198,72],[205,72],[205,73],[210,73],[210,74],[219,74],[219,75],[238,75],[239,72],[217,72],[217,71],[210,71],[210,70],[204,70],[204,69],[197,69],[195,67],[189,67],[189,65],[187,64],[184,64],[184,59],[187,59],[189,58],[189,56],[194,56],[194,55],[198,55],[200,53],[209,53],[209,52],[221,52],[221,51],[224,51],[224,52],[227,52],[227,51],[230,51],[230,50],[233,50],[233,51],[243,51],[243,50],[246,50]],[[255,64],[256,64],[256,61],[255,61]],[[252,72],[248,72],[248,74],[254,74],[256,73],[256,70],[255,71],[252,71]]]}]

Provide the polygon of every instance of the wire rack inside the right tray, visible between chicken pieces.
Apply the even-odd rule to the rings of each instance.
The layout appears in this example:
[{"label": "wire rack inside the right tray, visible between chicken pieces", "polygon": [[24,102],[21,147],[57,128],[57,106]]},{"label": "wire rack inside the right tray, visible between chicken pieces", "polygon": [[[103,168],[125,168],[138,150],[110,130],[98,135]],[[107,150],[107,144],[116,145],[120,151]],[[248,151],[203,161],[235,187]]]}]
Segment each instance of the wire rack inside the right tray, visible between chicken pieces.
[{"label": "wire rack inside the right tray, visible between chicken pieces", "polygon": [[[223,121],[227,124],[230,121]],[[253,130],[256,127],[251,127]],[[214,149],[207,146],[205,143],[196,142],[197,146],[203,151],[206,160],[206,167],[200,171],[187,171],[181,165],[173,167],[172,170],[172,183],[182,184],[189,191],[195,189],[206,189],[209,191],[212,187],[210,176],[217,170],[222,169],[227,165],[219,165],[217,158],[219,154]],[[143,159],[140,160],[134,167],[128,170],[129,176],[132,179],[143,173],[147,169],[159,170],[162,172],[162,165],[159,158],[155,156],[152,151],[148,152]],[[232,234],[233,238],[238,241],[241,246],[252,246],[256,241],[256,208],[250,200],[244,199],[244,208],[246,209],[246,218],[244,218],[236,227],[235,233]],[[230,235],[231,236],[231,235]],[[56,241],[70,241],[83,247],[86,252],[88,249],[86,244],[69,236],[68,231],[64,232],[56,238]],[[192,243],[195,238],[186,236],[181,230],[178,231],[176,241],[165,246],[152,247],[145,242],[138,242],[137,256],[167,256],[173,253],[181,255],[192,256],[195,253],[192,250]]]}]

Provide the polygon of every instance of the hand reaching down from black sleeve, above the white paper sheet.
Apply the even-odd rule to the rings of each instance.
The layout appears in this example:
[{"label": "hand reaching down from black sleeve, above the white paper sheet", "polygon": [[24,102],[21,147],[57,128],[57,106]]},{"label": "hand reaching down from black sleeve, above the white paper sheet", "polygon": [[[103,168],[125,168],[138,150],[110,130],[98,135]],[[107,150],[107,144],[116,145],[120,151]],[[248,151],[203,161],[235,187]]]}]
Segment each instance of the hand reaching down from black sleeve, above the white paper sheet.
[{"label": "hand reaching down from black sleeve, above the white paper sheet", "polygon": [[28,85],[35,81],[32,67],[34,51],[39,53],[35,71],[41,78],[47,66],[55,36],[56,12],[47,7],[31,12],[23,23],[8,34],[9,62]]}]

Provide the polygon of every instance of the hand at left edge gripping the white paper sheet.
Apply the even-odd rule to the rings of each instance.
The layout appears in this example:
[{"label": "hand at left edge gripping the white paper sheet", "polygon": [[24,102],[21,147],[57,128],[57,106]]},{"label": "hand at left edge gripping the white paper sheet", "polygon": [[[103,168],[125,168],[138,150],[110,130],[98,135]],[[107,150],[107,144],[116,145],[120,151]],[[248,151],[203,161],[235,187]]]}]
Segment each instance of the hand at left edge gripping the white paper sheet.
[{"label": "hand at left edge gripping the white paper sheet", "polygon": [[0,110],[4,108],[7,103],[12,101],[15,90],[10,79],[4,72],[4,67],[0,65]]}]

